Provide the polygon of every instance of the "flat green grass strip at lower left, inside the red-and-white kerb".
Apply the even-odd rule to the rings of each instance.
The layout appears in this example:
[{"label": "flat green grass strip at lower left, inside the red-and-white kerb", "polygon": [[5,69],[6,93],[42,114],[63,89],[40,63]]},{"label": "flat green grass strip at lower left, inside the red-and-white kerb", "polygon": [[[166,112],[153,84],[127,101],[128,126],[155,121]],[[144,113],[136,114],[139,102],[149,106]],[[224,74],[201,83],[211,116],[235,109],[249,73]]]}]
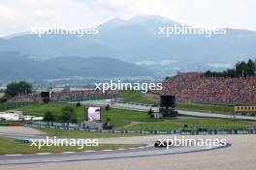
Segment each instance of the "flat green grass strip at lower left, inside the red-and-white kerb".
[{"label": "flat green grass strip at lower left, inside the red-and-white kerb", "polygon": [[0,155],[12,155],[12,154],[26,154],[26,153],[49,153],[49,152],[71,152],[71,151],[91,151],[91,150],[106,150],[117,148],[129,148],[136,147],[134,144],[99,144],[99,146],[84,146],[82,149],[80,146],[51,146],[42,147],[39,149],[36,146],[30,146],[29,144],[16,143],[16,139],[0,137]]}]

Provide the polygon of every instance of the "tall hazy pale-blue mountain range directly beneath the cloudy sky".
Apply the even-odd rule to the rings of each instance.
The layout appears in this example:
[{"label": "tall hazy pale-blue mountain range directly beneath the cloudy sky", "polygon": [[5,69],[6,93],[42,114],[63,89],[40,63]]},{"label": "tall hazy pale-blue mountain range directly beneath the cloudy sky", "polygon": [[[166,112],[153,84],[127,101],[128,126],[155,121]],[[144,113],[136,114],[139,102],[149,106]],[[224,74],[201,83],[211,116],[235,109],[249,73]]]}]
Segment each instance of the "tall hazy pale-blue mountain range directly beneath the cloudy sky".
[{"label": "tall hazy pale-blue mountain range directly beneath the cloudy sky", "polygon": [[[58,56],[111,57],[130,63],[146,63],[159,75],[172,71],[201,71],[211,66],[234,65],[256,56],[256,32],[227,29],[226,35],[158,35],[158,27],[179,25],[158,15],[141,15],[129,20],[112,19],[99,25],[98,35],[11,36],[5,49],[49,59]],[[1,44],[1,40],[0,40]],[[13,47],[14,46],[14,47]],[[165,67],[159,61],[176,61]],[[146,61],[146,62],[145,62]],[[161,63],[161,62],[160,62]],[[142,65],[147,67],[145,65]],[[214,69],[214,68],[213,68]]]}]

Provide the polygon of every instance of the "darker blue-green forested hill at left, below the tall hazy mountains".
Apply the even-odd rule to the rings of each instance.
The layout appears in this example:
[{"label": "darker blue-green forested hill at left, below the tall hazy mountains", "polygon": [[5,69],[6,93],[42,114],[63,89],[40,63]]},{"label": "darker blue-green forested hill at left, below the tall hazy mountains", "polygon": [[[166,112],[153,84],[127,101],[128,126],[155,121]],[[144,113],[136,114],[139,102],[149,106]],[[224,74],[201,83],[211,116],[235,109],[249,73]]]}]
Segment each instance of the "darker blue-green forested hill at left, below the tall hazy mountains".
[{"label": "darker blue-green forested hill at left, below the tall hazy mountains", "polygon": [[0,80],[80,77],[136,77],[154,73],[108,57],[58,57],[39,61],[17,52],[0,52]]}]

